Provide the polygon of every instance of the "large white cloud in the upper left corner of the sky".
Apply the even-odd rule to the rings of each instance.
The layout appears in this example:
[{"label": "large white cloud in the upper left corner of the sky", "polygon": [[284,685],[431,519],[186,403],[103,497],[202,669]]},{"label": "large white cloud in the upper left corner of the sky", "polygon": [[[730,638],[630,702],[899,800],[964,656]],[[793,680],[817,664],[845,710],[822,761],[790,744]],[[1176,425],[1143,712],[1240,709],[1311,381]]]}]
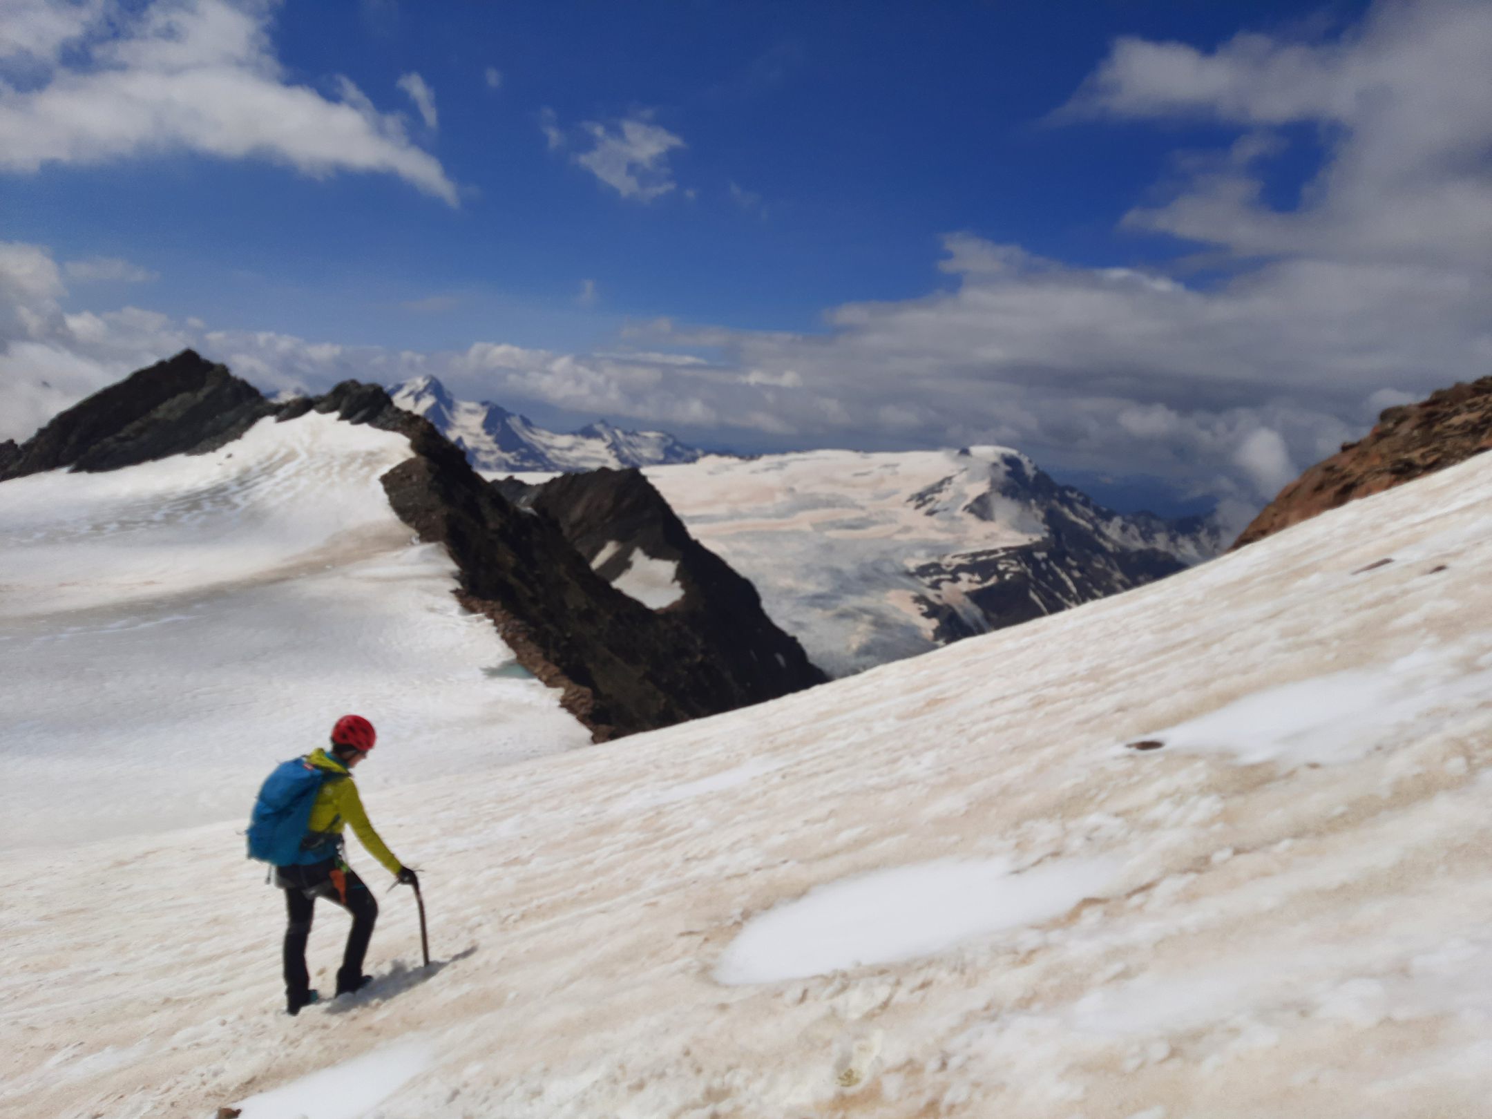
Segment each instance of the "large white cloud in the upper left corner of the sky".
[{"label": "large white cloud in the upper left corner of the sky", "polygon": [[[31,0],[25,13],[39,10]],[[95,164],[167,151],[282,163],[303,175],[397,175],[451,206],[457,188],[343,81],[334,101],[291,85],[269,39],[269,4],[155,0],[143,10],[58,7],[63,25],[22,21],[9,49],[40,66],[34,88],[0,84],[0,172]],[[67,61],[58,54],[73,51]],[[355,95],[348,95],[355,94]]]}]

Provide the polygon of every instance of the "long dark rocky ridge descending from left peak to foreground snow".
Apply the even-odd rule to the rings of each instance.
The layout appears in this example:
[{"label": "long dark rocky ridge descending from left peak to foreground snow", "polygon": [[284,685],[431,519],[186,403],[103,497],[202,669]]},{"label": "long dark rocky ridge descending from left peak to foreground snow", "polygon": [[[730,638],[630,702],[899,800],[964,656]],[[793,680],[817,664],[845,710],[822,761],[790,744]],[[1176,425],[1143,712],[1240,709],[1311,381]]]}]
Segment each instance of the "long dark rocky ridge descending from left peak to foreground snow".
[{"label": "long dark rocky ridge descending from left peak to foreground snow", "polygon": [[[322,397],[270,403],[225,367],[185,351],[58,415],[16,448],[0,480],[206,452],[266,418],[285,422],[312,410],[409,439],[410,458],[382,477],[395,515],[446,548],[460,568],[463,604],[491,618],[518,661],[564,691],[564,706],[597,740],[822,679],[806,659],[777,662],[791,639],[765,616],[710,633],[688,612],[656,612],[615,589],[551,516],[516,509],[451,440],[376,385],[343,382]],[[737,595],[728,609],[746,607]]]}]

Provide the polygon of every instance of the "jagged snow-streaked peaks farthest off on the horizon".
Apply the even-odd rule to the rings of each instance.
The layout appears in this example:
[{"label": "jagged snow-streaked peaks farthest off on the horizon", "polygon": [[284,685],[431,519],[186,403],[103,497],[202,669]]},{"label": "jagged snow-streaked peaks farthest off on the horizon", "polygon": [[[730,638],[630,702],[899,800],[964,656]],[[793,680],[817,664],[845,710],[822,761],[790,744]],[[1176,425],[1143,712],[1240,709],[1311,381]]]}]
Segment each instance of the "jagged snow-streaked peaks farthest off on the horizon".
[{"label": "jagged snow-streaked peaks farthest off on the horizon", "polygon": [[434,424],[477,470],[560,473],[694,463],[703,454],[664,431],[624,431],[606,421],[571,434],[546,431],[498,404],[457,400],[430,376],[394,385],[389,395],[398,407]]}]

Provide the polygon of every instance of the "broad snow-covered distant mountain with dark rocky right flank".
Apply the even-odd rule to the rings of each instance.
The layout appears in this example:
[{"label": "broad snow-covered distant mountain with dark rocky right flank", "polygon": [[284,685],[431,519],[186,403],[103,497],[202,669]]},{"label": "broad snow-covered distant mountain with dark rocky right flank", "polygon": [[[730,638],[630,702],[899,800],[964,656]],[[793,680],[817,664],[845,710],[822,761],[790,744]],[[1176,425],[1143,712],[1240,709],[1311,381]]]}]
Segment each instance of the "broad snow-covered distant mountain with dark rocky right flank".
[{"label": "broad snow-covered distant mountain with dark rocky right flank", "polygon": [[1116,513],[1006,448],[707,458],[648,476],[834,676],[1140,586],[1223,548],[1210,521]]}]

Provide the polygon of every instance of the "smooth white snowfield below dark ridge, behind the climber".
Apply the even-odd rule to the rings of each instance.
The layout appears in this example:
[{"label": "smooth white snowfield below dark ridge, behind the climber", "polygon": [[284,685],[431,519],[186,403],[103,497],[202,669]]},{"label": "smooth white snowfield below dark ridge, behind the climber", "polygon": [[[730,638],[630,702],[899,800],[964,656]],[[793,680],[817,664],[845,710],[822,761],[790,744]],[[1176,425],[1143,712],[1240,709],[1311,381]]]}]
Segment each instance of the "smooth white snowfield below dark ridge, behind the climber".
[{"label": "smooth white snowfield below dark ridge, behind the climber", "polygon": [[409,455],[312,413],[0,485],[0,849],[240,819],[346,710],[383,734],[373,788],[588,742],[551,689],[483,676],[507,646],[377,482]]}]

